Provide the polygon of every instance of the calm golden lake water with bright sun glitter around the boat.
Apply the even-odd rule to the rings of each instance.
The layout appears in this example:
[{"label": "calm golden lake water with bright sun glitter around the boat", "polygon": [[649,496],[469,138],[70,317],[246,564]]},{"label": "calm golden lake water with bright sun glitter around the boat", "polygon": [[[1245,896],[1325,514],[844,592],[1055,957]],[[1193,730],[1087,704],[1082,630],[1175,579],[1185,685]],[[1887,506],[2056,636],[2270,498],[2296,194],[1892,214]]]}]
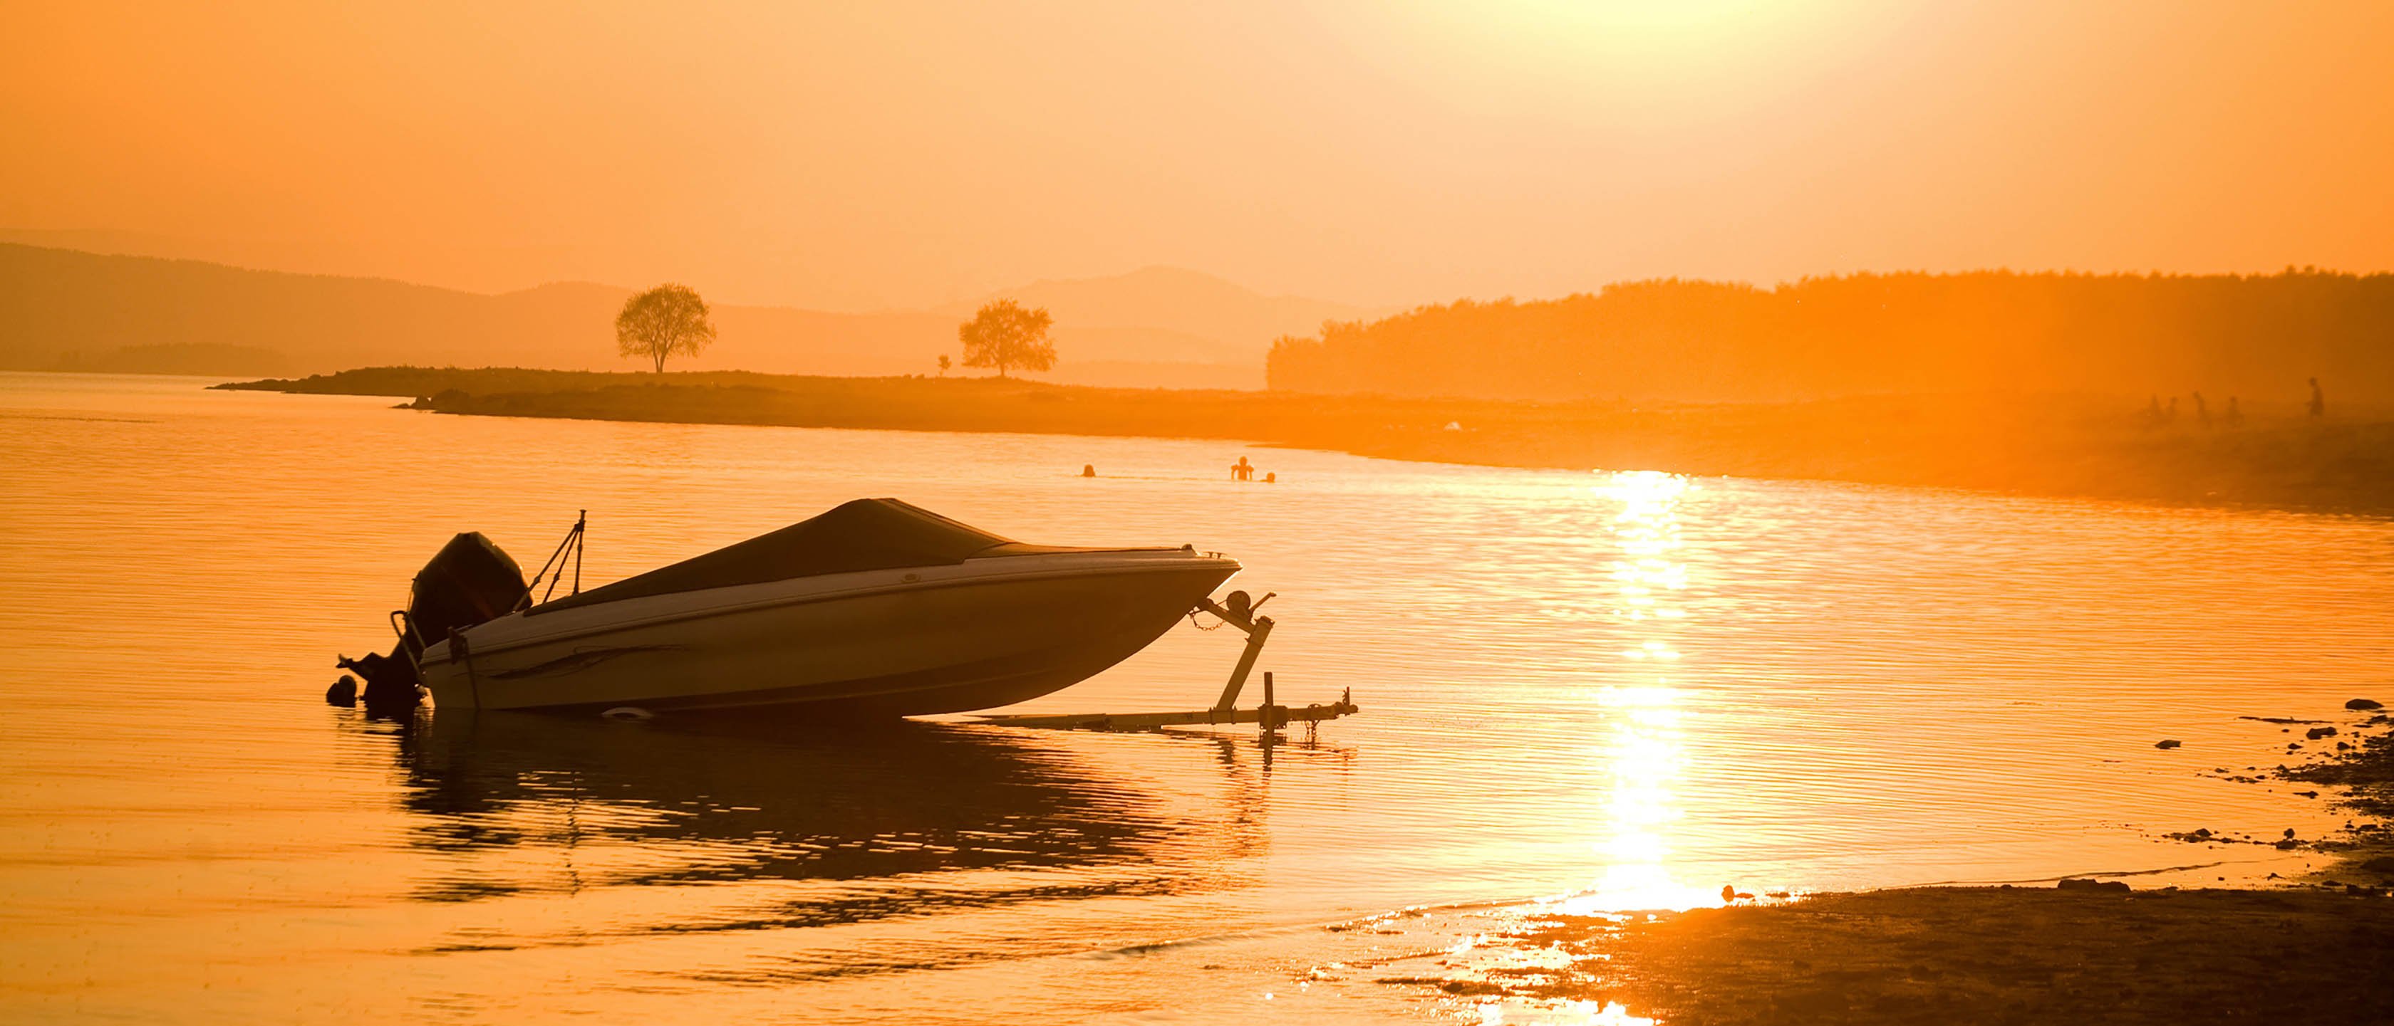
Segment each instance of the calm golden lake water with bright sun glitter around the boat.
[{"label": "calm golden lake water with bright sun glitter around the boat", "polygon": [[[2301,871],[2159,835],[2329,830],[2212,770],[2286,761],[2241,717],[2394,701],[2382,519],[199,385],[0,375],[5,1021],[1611,1021],[1374,978],[1530,899]],[[539,564],[587,507],[603,584],[859,495],[1231,552],[1281,701],[1365,713],[1266,749],[321,698],[455,531]],[[1027,708],[1202,708],[1235,653],[1180,627]]]}]

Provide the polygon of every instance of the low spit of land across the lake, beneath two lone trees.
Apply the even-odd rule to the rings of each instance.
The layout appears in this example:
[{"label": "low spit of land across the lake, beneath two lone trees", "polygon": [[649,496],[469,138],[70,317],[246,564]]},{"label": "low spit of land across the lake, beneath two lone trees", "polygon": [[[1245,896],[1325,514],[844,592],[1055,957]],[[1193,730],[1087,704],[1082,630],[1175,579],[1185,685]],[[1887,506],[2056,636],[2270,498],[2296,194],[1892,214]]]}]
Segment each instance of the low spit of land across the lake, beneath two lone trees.
[{"label": "low spit of land across the lake, beneath two lone trees", "polygon": [[2200,426],[2188,411],[2155,423],[2135,402],[2090,397],[1628,404],[515,368],[361,368],[220,387],[393,395],[440,414],[1221,438],[1489,466],[2394,512],[2394,421]]}]

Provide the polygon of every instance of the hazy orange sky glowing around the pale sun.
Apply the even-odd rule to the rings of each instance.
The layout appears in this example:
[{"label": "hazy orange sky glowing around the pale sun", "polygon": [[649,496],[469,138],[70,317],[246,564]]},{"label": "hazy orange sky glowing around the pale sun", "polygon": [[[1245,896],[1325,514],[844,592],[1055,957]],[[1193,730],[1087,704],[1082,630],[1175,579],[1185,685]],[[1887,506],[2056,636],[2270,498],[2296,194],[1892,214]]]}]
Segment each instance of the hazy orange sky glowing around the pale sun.
[{"label": "hazy orange sky glowing around the pale sun", "polygon": [[280,270],[871,309],[1147,263],[1367,304],[2394,268],[2394,2],[12,2],[5,22],[0,230]]}]

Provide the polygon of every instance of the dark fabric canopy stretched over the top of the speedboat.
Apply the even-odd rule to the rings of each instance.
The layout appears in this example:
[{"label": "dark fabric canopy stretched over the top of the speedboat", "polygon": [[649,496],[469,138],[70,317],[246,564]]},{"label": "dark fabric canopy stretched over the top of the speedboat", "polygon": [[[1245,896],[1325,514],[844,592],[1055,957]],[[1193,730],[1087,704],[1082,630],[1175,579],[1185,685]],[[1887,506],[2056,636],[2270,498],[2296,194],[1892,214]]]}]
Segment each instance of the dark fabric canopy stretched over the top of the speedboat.
[{"label": "dark fabric canopy stretched over the top of the speedboat", "polygon": [[572,598],[534,605],[531,612],[675,591],[730,588],[788,581],[792,576],[852,574],[859,569],[953,567],[974,555],[1075,552],[1058,545],[1025,545],[931,509],[898,500],[855,500],[814,519],[737,545],[658,567],[639,576],[591,588]]}]

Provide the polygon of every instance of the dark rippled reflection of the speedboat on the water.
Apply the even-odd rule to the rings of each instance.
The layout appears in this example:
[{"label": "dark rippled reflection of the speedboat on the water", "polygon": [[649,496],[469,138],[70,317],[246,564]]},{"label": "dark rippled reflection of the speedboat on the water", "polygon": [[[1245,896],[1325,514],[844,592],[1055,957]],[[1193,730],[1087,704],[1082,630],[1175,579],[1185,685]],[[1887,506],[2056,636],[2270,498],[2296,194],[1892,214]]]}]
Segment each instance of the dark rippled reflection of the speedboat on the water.
[{"label": "dark rippled reflection of the speedboat on the water", "polygon": [[[1120,916],[1094,909],[1106,899],[1250,887],[1264,849],[1252,756],[912,720],[809,732],[754,715],[448,710],[400,732],[414,897],[505,906],[460,909],[452,935],[539,947],[840,928],[780,935],[776,959],[792,964],[773,981],[869,969],[852,964],[855,930],[874,933],[874,957],[910,949],[905,966],[979,961],[1008,952],[936,933],[998,930],[1013,954],[1075,949],[1089,942],[1077,918]],[[1032,902],[1034,916],[1010,914]],[[819,949],[792,959],[807,945]]]}]

